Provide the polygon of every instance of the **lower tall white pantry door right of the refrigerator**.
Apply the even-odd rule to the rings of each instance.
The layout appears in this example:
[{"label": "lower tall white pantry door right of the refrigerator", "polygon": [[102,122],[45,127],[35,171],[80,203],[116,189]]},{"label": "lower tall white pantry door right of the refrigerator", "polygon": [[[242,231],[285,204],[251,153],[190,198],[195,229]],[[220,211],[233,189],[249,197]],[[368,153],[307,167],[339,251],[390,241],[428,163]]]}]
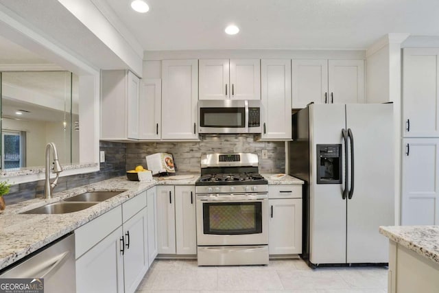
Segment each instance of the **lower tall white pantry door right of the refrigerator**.
[{"label": "lower tall white pantry door right of the refrigerator", "polygon": [[439,224],[439,139],[403,139],[401,224]]}]

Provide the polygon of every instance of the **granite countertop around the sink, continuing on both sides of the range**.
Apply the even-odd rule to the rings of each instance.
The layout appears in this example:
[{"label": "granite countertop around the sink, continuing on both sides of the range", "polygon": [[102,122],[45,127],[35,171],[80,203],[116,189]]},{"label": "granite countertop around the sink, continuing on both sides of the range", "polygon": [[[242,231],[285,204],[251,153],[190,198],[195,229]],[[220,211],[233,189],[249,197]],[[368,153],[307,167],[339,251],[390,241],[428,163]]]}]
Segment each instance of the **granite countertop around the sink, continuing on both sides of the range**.
[{"label": "granite countertop around the sink, continuing on both sides of the range", "polygon": [[[264,174],[268,184],[302,184],[292,176]],[[34,198],[11,204],[0,213],[0,270],[11,263],[50,244],[54,240],[71,233],[76,228],[90,222],[99,215],[110,211],[126,200],[141,194],[154,185],[195,185],[200,174],[184,174],[154,177],[150,182],[129,181],[125,176],[111,178],[90,185],[55,193],[51,199]],[[58,215],[20,214],[51,202],[58,202],[88,191],[121,191],[121,194],[77,211]]]}]

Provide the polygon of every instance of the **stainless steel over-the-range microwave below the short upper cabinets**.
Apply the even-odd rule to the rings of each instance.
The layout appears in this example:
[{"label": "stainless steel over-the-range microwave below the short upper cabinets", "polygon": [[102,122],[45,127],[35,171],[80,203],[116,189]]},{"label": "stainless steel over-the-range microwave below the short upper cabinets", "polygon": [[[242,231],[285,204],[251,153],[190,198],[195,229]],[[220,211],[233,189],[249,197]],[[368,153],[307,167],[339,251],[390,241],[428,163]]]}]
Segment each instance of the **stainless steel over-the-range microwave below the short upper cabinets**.
[{"label": "stainless steel over-the-range microwave below the short upper cabinets", "polygon": [[200,133],[261,133],[261,101],[208,99],[198,101]]}]

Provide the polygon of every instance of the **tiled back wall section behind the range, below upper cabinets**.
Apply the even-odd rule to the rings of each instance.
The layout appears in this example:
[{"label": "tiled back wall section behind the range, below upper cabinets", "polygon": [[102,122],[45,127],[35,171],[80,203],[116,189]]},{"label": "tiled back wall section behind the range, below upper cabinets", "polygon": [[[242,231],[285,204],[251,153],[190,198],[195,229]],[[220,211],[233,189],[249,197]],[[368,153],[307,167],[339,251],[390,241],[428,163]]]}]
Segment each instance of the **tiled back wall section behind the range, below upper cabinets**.
[{"label": "tiled back wall section behind the range, below upper cabinets", "polygon": [[[174,156],[178,172],[200,172],[200,157],[211,152],[254,152],[259,156],[260,173],[285,172],[285,144],[283,141],[254,141],[252,135],[200,136],[195,142],[127,143],[126,169],[146,165],[145,156],[169,152]],[[261,159],[262,150],[269,159]]]}]

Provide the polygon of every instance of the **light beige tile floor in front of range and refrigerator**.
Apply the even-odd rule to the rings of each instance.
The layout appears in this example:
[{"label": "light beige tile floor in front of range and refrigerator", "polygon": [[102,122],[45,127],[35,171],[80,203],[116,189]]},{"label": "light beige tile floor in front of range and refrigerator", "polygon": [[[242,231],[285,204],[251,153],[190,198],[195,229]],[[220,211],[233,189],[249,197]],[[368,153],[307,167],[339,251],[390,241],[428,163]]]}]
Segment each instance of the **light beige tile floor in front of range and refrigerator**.
[{"label": "light beige tile floor in front of range and refrigerator", "polygon": [[137,293],[385,293],[386,267],[317,268],[302,260],[268,266],[198,267],[196,260],[156,260]]}]

